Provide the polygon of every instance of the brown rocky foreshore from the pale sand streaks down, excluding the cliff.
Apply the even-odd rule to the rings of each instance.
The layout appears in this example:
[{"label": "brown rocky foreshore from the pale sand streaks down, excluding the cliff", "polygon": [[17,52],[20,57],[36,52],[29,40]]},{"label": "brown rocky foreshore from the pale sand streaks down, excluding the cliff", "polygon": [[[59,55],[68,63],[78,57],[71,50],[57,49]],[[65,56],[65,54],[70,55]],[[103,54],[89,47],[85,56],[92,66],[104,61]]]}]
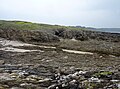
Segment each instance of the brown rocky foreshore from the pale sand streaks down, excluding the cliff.
[{"label": "brown rocky foreshore from the pale sand streaks down, excluding the cliff", "polygon": [[67,51],[1,38],[0,89],[120,89],[119,56]]}]

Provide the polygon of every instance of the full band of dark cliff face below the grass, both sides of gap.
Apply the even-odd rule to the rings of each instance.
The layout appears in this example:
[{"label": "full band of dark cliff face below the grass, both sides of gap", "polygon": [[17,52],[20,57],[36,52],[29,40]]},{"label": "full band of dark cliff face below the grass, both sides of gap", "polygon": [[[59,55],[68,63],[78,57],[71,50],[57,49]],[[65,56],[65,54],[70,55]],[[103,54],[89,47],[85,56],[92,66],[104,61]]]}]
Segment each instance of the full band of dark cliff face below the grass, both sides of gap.
[{"label": "full band of dark cliff face below the grass, both sides of gap", "polygon": [[105,40],[118,42],[120,41],[120,34],[95,32],[87,30],[14,30],[14,29],[0,29],[0,37],[20,40],[23,42],[58,42],[60,38],[76,40]]}]

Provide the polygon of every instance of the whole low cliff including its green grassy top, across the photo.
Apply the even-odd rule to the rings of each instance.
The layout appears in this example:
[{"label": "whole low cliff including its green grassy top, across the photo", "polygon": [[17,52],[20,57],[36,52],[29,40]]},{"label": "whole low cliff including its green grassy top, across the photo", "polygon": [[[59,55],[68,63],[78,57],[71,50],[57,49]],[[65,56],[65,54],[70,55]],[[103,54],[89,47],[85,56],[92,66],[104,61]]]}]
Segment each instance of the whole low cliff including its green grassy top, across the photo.
[{"label": "whole low cliff including its green grassy top, across the photo", "polygon": [[81,41],[90,39],[120,41],[120,33],[97,32],[83,28],[22,21],[0,21],[0,37],[24,42],[58,42],[60,38],[75,38]]}]

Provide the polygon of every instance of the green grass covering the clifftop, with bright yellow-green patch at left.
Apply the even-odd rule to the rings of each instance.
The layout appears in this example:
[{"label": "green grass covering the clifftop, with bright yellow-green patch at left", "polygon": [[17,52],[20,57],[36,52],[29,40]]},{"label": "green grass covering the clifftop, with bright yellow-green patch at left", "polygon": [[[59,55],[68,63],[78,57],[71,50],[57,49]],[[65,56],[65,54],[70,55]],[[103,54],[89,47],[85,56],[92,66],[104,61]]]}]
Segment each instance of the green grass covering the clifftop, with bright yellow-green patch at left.
[{"label": "green grass covering the clifftop, with bright yellow-green patch at left", "polygon": [[60,26],[49,24],[38,24],[25,21],[5,21],[0,20],[0,29],[16,29],[16,30],[57,30],[57,29],[69,29],[69,30],[84,30],[84,28],[76,28],[72,26]]}]

